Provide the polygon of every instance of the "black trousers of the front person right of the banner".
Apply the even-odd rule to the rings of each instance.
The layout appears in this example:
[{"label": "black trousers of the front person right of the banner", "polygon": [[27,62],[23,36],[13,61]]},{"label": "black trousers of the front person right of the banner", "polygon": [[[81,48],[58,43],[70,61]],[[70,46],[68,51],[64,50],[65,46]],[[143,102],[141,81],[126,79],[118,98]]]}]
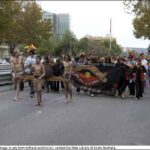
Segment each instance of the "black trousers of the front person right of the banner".
[{"label": "black trousers of the front person right of the banner", "polygon": [[136,98],[143,96],[143,81],[135,81]]}]

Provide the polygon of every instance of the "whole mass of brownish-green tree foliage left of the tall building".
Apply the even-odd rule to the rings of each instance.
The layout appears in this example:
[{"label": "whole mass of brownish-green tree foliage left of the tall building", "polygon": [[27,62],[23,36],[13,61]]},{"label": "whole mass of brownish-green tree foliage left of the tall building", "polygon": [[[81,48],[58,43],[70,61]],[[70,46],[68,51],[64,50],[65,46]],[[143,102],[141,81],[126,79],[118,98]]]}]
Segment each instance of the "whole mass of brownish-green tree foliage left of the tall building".
[{"label": "whole mass of brownish-green tree foliage left of the tall building", "polygon": [[0,42],[8,44],[10,52],[23,43],[38,47],[42,39],[51,35],[50,20],[42,20],[42,15],[35,1],[0,1]]}]

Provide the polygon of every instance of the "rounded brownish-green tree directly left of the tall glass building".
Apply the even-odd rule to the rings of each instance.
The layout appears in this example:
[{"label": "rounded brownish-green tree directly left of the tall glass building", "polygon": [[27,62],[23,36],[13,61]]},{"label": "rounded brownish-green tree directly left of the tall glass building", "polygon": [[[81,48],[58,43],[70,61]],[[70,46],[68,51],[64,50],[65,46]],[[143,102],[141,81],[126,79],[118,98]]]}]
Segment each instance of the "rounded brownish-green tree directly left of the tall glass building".
[{"label": "rounded brownish-green tree directly left of the tall glass building", "polygon": [[35,2],[28,2],[24,6],[21,20],[22,42],[33,43],[37,47],[41,40],[48,40],[51,35],[50,20],[42,20],[42,9]]}]

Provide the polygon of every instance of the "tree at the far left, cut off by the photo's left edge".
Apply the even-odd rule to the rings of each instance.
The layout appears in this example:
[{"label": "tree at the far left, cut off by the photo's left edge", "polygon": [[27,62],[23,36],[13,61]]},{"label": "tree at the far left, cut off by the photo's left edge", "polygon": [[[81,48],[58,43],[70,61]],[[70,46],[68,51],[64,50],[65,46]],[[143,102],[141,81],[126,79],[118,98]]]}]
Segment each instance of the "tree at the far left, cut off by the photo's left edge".
[{"label": "tree at the far left, cut off by the photo's left edge", "polygon": [[0,43],[5,42],[10,48],[15,47],[19,39],[18,20],[20,18],[21,3],[12,1],[0,1]]}]

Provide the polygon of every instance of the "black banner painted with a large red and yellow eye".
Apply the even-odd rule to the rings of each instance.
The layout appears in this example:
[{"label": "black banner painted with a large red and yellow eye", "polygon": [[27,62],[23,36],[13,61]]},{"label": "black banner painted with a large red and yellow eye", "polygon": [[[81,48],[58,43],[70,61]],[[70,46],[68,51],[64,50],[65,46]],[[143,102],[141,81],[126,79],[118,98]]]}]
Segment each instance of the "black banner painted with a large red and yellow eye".
[{"label": "black banner painted with a large red and yellow eye", "polygon": [[121,80],[121,67],[105,63],[76,66],[72,75],[73,85],[85,92],[115,95]]}]

